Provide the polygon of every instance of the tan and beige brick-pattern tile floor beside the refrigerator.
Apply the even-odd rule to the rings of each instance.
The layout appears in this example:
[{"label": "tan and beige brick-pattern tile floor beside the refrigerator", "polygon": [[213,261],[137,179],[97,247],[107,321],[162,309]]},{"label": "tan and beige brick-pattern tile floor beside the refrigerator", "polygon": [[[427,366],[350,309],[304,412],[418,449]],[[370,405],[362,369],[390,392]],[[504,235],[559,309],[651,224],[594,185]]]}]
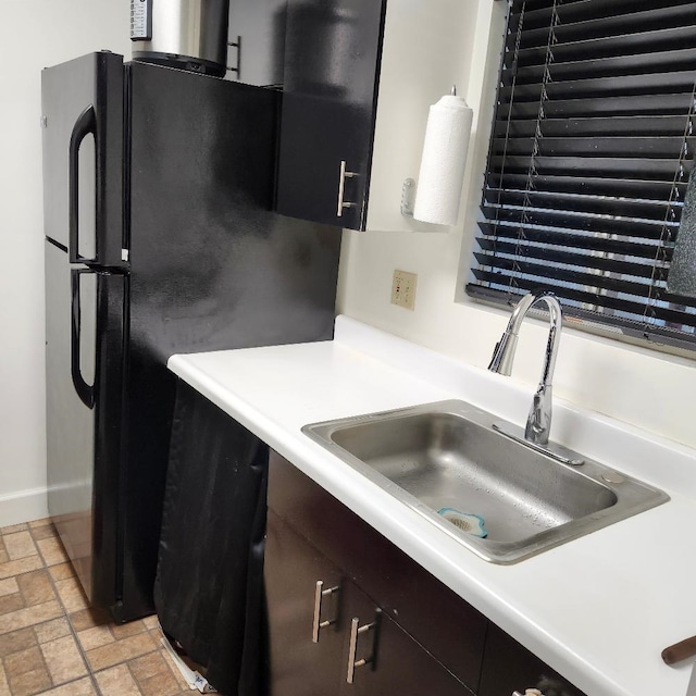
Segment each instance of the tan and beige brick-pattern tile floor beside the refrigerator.
[{"label": "tan and beige brick-pattern tile floor beside the refrigerator", "polygon": [[0,529],[0,696],[176,696],[157,618],[88,608],[50,520]]}]

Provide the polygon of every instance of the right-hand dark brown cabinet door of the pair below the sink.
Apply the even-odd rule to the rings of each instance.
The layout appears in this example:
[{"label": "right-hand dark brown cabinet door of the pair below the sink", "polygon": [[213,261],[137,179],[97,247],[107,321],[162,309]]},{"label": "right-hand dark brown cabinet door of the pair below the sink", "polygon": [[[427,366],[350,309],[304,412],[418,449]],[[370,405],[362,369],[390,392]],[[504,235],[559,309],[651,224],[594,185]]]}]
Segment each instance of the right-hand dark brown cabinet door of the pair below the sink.
[{"label": "right-hand dark brown cabinet door of the pair below the sink", "polygon": [[[469,696],[472,694],[458,679],[399,627],[355,585],[347,585],[345,671],[340,696]],[[353,642],[351,623],[362,629]],[[365,630],[365,626],[372,626]],[[355,629],[353,629],[355,632]],[[352,683],[348,682],[351,660]],[[361,660],[365,660],[361,663]]]}]

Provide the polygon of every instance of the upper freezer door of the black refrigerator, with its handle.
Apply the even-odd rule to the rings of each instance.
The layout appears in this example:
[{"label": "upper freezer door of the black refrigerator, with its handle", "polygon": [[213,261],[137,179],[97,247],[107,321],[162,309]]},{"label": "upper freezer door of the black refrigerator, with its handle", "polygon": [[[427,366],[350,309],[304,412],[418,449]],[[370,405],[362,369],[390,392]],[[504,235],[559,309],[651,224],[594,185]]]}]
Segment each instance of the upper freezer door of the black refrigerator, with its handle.
[{"label": "upper freezer door of the black refrigerator, with its handle", "polygon": [[41,73],[44,229],[73,263],[123,265],[123,57]]}]

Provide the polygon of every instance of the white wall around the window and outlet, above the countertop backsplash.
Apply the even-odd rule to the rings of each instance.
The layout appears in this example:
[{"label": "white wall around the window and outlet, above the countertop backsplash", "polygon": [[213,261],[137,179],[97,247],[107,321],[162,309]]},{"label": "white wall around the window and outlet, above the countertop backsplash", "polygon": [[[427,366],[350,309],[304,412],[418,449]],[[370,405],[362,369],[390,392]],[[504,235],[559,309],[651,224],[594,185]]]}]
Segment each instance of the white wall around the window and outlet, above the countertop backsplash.
[{"label": "white wall around the window and outlet, above the countertop backsplash", "polygon": [[[344,232],[339,281],[339,312],[481,368],[509,318],[470,301],[462,289],[481,198],[505,4],[467,2],[475,33],[464,96],[475,120],[460,224],[448,233]],[[395,269],[418,273],[414,311],[389,303]],[[526,324],[511,378],[527,383],[532,394],[546,328],[540,322]],[[696,447],[695,368],[687,359],[566,328],[554,389],[557,398]],[[525,419],[521,413],[520,423]],[[562,439],[562,434],[556,436]]]}]

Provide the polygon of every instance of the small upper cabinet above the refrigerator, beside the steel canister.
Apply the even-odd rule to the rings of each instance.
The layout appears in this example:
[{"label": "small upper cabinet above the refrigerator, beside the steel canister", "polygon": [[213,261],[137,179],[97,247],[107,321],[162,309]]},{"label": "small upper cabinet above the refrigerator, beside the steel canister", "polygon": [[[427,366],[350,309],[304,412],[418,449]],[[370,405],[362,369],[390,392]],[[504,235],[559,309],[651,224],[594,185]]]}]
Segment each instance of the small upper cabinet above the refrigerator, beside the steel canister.
[{"label": "small upper cabinet above the refrigerator, beside the steel canister", "polygon": [[228,75],[260,87],[283,84],[287,0],[231,0]]}]

